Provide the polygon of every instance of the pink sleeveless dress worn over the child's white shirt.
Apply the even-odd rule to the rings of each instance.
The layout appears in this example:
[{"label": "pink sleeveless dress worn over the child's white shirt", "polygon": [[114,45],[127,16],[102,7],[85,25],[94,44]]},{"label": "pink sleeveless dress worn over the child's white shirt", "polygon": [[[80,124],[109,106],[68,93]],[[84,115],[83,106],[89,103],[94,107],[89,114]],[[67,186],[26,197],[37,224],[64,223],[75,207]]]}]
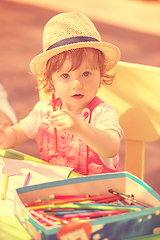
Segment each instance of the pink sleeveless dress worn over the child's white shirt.
[{"label": "pink sleeveless dress worn over the child's white shirt", "polygon": [[[100,98],[95,97],[91,103],[82,111],[80,118],[90,123],[92,111],[101,103]],[[49,104],[52,104],[51,102]],[[60,106],[60,98],[56,99],[56,106]],[[58,151],[54,151],[54,131],[52,125],[48,124],[50,113],[43,116],[38,128],[36,141],[41,159],[57,166],[73,168],[74,172],[82,175],[93,175],[100,173],[121,171],[118,155],[117,165],[114,169],[107,167],[99,155],[87,146],[76,135],[57,130]]]}]

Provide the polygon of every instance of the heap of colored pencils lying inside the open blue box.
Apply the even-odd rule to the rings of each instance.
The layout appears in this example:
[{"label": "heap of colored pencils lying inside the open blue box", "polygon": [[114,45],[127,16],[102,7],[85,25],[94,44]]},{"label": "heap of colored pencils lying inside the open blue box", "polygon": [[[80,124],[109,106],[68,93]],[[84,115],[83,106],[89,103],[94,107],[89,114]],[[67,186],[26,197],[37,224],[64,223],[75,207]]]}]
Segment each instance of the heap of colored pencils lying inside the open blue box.
[{"label": "heap of colored pencils lying inside the open blue box", "polygon": [[26,203],[25,206],[40,223],[53,227],[145,209],[142,205],[130,203],[119,205],[119,200],[133,200],[133,197],[111,189],[109,192],[108,195],[50,195],[50,198]]}]

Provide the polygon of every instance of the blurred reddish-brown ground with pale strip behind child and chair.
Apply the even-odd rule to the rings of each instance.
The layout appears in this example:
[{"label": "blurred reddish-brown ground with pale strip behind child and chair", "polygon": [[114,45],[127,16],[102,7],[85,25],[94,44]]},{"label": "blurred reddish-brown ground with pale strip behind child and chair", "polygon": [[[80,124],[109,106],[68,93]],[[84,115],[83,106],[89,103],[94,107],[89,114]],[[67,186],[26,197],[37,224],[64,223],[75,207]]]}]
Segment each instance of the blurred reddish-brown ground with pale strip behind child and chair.
[{"label": "blurred reddish-brown ground with pale strip behind child and chair", "polygon": [[[160,67],[160,1],[0,0],[0,82],[18,121],[39,100],[29,63],[42,52],[44,25],[65,11],[86,14],[102,40],[120,48],[121,61]],[[122,140],[122,168],[124,147]],[[34,140],[17,150],[39,158]],[[144,180],[160,194],[160,140],[146,143]]]}]

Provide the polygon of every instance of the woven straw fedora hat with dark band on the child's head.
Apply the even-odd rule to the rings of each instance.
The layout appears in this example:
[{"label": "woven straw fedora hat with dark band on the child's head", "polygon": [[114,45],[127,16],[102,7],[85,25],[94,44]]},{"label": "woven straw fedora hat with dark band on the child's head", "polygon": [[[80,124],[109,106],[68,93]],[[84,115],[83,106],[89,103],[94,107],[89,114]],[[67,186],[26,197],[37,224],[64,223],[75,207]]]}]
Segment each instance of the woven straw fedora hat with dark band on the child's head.
[{"label": "woven straw fedora hat with dark band on the child's head", "polygon": [[113,44],[102,42],[94,24],[79,12],[60,13],[51,18],[43,31],[43,53],[30,63],[30,70],[36,75],[44,74],[47,61],[61,52],[91,47],[99,49],[105,56],[107,70],[112,69],[120,59],[120,51]]}]

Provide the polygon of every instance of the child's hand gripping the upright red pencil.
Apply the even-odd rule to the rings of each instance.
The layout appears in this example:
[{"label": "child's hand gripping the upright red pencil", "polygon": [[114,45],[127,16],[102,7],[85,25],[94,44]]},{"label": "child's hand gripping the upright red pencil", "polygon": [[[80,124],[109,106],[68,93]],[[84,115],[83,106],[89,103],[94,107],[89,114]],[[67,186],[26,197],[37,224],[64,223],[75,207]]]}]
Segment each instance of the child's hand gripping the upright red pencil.
[{"label": "child's hand gripping the upright red pencil", "polygon": [[50,115],[50,123],[59,131],[65,131],[70,134],[78,134],[81,120],[67,109],[55,111]]}]

